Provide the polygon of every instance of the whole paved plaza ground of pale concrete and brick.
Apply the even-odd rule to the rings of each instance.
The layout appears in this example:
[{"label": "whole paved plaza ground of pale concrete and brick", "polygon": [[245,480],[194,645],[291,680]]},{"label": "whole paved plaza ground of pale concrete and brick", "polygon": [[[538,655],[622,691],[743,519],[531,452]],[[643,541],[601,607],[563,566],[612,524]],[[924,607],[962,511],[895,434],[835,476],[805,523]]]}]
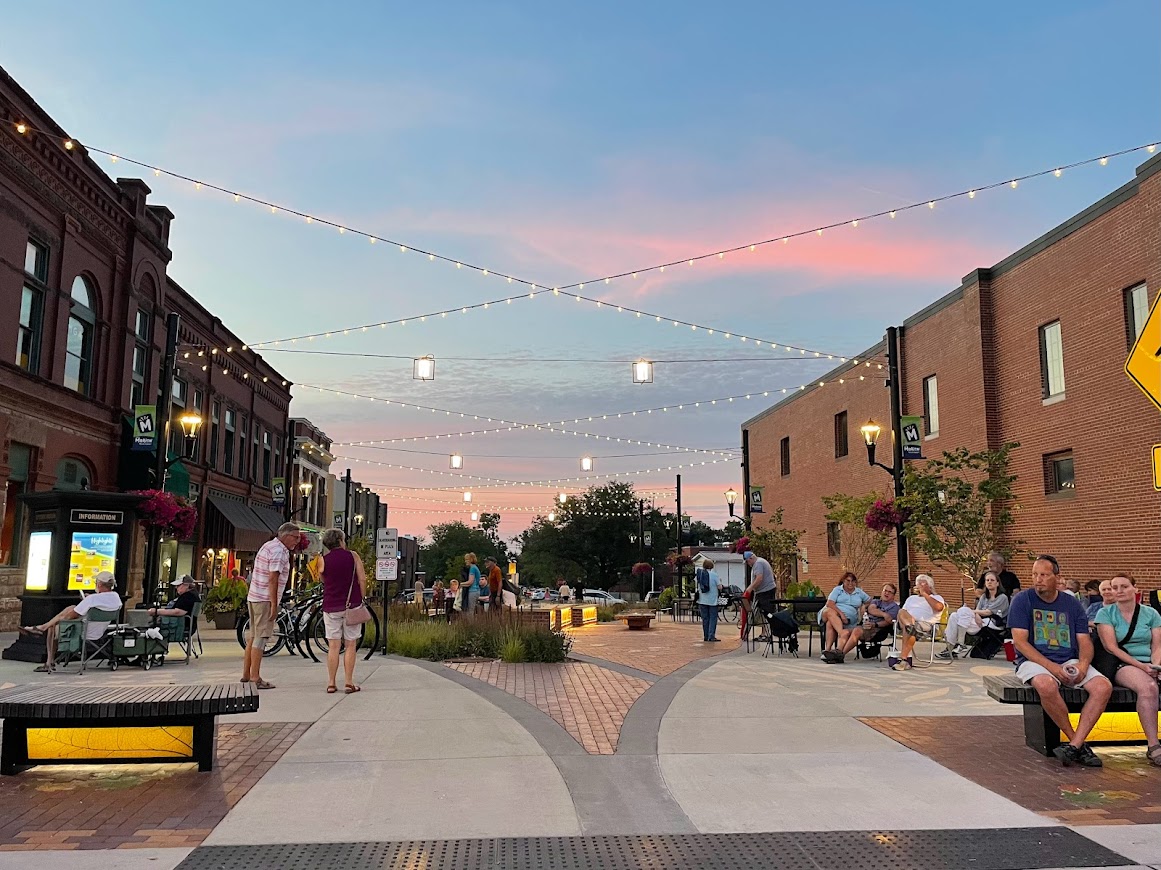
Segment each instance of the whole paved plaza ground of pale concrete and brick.
[{"label": "whole paved plaza ground of pale concrete and brick", "polygon": [[[832,867],[841,844],[865,867],[1161,865],[1141,750],[1102,749],[1103,770],[1038,756],[1018,710],[983,690],[1003,662],[828,667],[658,627],[579,630],[583,661],[563,664],[375,655],[351,696],[325,693],[322,664],[268,659],[279,688],[219,719],[210,774],[59,765],[0,781],[2,865],[745,867],[788,848],[781,865]],[[232,635],[207,638],[188,667],[50,677],[2,662],[0,685],[237,680]],[[942,863],[911,863],[940,843]]]}]

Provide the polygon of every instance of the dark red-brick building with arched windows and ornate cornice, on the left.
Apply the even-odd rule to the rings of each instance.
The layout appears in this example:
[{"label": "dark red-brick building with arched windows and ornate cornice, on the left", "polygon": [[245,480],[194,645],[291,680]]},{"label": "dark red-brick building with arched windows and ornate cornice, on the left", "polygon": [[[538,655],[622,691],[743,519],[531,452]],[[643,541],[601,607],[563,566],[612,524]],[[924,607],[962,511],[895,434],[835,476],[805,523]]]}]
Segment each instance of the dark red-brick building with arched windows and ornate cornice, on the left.
[{"label": "dark red-brick building with arched windows and ornate cornice, on the left", "polygon": [[[21,494],[150,486],[147,454],[125,450],[127,420],[158,395],[170,311],[182,316],[175,415],[196,405],[207,424],[171,469],[168,487],[189,487],[201,519],[163,552],[168,571],[196,573],[195,554],[232,544],[208,499],[268,505],[281,473],[289,386],[167,278],[173,214],[149,194],[110,179],[0,69],[0,310],[12,312],[0,329],[0,631],[15,626],[27,569]],[[219,361],[223,346],[233,351]],[[269,537],[266,522],[250,531]],[[139,556],[128,575],[134,592]]]}]

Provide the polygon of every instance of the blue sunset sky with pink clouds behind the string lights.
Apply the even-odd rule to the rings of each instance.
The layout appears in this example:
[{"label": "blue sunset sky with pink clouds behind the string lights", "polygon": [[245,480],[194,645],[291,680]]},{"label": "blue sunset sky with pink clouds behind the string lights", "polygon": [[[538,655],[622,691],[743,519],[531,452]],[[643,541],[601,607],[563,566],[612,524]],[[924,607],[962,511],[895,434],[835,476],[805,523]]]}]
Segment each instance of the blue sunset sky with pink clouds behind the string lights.
[{"label": "blue sunset sky with pink clouds behind the string lights", "polygon": [[[337,443],[428,438],[334,450],[339,474],[387,488],[403,533],[467,520],[466,488],[477,509],[503,505],[505,537],[535,516],[515,508],[610,479],[672,510],[679,472],[685,512],[720,526],[741,472],[716,451],[737,450],[741,422],[1147,154],[849,221],[1161,139],[1161,7],[1145,0],[0,7],[0,64],[82,143],[489,269],[145,175],[176,215],[170,274],[243,340],[338,333],[264,345],[288,379],[453,412],[294,389],[291,412]],[[848,225],[600,280],[831,223]],[[603,304],[528,300],[495,272],[584,281]],[[424,354],[434,381],[411,378]],[[657,361],[654,383],[630,382],[637,358]],[[433,438],[489,427],[476,416],[580,417],[562,427],[715,453],[535,429]],[[584,454],[599,474],[486,487],[368,465],[447,472],[454,450],[482,477],[577,477]]]}]

